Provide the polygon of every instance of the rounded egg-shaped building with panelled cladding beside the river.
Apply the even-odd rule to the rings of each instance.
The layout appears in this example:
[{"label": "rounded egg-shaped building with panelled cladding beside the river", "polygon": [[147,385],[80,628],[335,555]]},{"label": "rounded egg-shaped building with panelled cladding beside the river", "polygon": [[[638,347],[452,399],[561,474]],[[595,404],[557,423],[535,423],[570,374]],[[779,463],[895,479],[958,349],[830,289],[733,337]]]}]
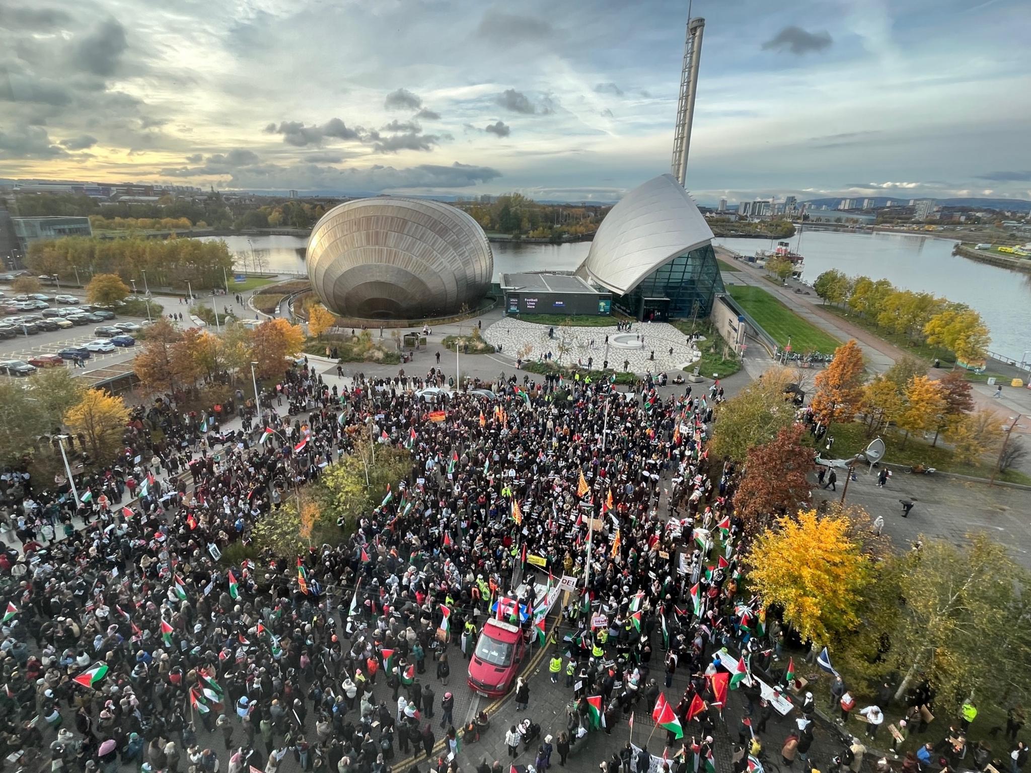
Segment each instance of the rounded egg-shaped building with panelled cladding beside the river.
[{"label": "rounded egg-shaped building with panelled cladding beside the river", "polygon": [[326,212],[308,239],[307,266],[315,294],[341,316],[414,318],[475,307],[494,256],[461,209],[383,196]]}]

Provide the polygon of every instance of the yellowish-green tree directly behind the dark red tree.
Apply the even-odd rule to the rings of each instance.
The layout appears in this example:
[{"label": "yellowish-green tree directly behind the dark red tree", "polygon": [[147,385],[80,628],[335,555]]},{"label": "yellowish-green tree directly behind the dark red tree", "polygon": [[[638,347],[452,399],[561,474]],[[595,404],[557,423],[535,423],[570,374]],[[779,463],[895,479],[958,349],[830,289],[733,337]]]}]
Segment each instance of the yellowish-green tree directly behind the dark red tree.
[{"label": "yellowish-green tree directly behind the dark red tree", "polygon": [[795,421],[795,408],[786,399],[792,382],[787,368],[771,368],[735,397],[717,408],[712,452],[742,460],[749,448],[768,442]]}]

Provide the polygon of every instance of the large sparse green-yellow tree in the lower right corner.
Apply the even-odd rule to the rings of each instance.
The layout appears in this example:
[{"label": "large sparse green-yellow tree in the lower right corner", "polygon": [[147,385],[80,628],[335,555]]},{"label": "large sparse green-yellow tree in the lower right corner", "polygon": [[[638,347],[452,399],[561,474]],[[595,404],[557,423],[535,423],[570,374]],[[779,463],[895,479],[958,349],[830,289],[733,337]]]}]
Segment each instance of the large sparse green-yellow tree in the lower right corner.
[{"label": "large sparse green-yellow tree in the lower right corner", "polygon": [[967,535],[962,547],[922,543],[902,572],[904,602],[892,651],[905,676],[895,700],[918,677],[930,681],[950,713],[972,694],[1026,692],[1031,574],[982,533]]}]

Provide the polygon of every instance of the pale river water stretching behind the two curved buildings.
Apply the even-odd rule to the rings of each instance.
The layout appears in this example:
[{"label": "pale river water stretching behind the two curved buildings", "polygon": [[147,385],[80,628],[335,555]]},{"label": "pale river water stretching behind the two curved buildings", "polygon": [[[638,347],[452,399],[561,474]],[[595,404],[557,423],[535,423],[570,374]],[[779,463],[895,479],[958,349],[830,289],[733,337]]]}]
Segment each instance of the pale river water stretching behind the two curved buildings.
[{"label": "pale river water stretching behind the two curved buildings", "polygon": [[[207,237],[211,238],[211,237]],[[305,271],[307,240],[296,236],[222,237],[236,256],[236,267],[270,271]],[[714,243],[742,255],[768,249],[764,239],[723,239]],[[968,304],[980,312],[992,331],[992,350],[1020,360],[1031,349],[1031,274],[976,263],[952,254],[954,241],[908,234],[805,232],[791,239],[805,256],[803,278],[811,282],[836,268],[856,276],[886,278],[904,290],[923,291]],[[519,271],[571,271],[587,257],[590,242],[519,244],[492,242],[494,280]]]}]

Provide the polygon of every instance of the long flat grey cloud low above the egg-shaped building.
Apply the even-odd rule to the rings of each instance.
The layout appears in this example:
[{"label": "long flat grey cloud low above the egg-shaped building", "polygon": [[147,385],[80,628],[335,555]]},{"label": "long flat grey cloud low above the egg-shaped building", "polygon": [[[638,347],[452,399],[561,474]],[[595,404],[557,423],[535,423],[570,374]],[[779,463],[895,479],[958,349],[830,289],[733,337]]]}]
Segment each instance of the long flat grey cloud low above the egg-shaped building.
[{"label": "long flat grey cloud low above the egg-shaped building", "polygon": [[[175,176],[175,175],[173,175]],[[230,187],[250,190],[361,193],[404,189],[470,188],[501,176],[497,169],[458,162],[451,166],[420,164],[405,169],[376,165],[367,169],[299,164],[245,167],[233,173]]]}]

